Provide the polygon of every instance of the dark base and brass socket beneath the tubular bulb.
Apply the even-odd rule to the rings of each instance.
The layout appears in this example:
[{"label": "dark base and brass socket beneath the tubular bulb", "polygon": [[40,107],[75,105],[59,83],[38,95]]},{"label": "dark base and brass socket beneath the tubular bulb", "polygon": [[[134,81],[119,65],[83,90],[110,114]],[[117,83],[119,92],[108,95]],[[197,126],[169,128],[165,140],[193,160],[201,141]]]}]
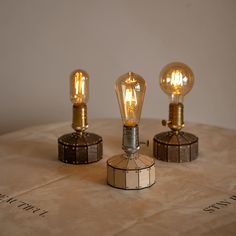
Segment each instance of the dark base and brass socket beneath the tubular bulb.
[{"label": "dark base and brass socket beneath the tubular bulb", "polygon": [[85,132],[88,128],[86,104],[73,105],[72,128],[76,132],[58,138],[58,159],[74,165],[89,164],[102,159],[102,137]]}]

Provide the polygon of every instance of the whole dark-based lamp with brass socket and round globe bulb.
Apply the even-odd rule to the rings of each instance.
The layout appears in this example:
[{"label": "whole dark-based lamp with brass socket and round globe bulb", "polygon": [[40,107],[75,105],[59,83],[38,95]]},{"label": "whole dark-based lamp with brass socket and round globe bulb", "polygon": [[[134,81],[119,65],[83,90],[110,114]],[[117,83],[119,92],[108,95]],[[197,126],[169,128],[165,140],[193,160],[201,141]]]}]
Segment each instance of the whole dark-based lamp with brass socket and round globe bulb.
[{"label": "whole dark-based lamp with brass socket and round globe bulb", "polygon": [[184,96],[192,89],[194,74],[185,64],[174,62],[166,65],[160,72],[160,87],[170,96],[169,120],[162,125],[171,131],[154,136],[153,154],[162,161],[188,162],[198,156],[198,138],[181,131],[184,127]]}]

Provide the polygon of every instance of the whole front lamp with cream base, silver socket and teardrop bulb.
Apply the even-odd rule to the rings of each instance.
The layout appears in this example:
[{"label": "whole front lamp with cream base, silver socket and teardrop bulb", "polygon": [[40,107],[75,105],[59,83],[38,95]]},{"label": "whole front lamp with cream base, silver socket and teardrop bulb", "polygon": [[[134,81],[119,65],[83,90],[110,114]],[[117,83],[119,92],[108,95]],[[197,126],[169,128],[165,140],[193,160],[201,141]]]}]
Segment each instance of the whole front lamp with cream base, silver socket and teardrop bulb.
[{"label": "whole front lamp with cream base, silver socket and teardrop bulb", "polygon": [[120,189],[143,189],[155,183],[153,158],[138,153],[138,123],[146,91],[145,80],[128,72],[116,81],[116,94],[123,120],[124,154],[107,161],[107,183]]}]

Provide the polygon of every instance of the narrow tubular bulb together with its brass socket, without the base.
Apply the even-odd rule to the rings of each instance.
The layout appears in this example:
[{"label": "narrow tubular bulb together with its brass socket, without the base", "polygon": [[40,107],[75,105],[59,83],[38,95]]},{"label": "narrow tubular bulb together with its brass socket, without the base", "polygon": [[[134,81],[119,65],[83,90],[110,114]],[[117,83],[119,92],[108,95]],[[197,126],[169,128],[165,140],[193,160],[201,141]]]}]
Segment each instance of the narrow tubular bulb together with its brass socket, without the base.
[{"label": "narrow tubular bulb together with its brass socket, without the base", "polygon": [[89,98],[89,75],[84,70],[75,70],[70,78],[70,99],[73,103],[72,127],[77,132],[88,128],[87,105]]}]

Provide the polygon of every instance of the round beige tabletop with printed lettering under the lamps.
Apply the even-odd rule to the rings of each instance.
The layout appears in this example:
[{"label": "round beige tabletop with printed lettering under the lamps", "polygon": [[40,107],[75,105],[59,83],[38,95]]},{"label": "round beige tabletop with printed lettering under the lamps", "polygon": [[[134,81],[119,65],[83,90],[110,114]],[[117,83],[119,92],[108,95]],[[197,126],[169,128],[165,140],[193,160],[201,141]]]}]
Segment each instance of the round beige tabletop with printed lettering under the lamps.
[{"label": "round beige tabletop with printed lettering under the lamps", "polygon": [[[141,153],[166,130],[143,119]],[[119,190],[106,184],[106,160],[122,152],[120,120],[90,121],[103,137],[104,157],[89,165],[57,160],[57,138],[70,123],[0,136],[0,235],[235,235],[236,131],[186,124],[199,137],[191,163],[156,160],[156,184]],[[204,210],[205,209],[205,210]]]}]

